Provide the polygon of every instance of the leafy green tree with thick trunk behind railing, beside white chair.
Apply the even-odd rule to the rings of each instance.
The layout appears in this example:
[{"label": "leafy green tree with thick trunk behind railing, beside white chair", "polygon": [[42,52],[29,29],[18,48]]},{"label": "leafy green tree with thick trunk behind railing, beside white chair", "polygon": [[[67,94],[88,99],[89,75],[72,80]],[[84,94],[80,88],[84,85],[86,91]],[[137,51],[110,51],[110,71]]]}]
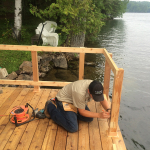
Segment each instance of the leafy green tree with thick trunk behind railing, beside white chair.
[{"label": "leafy green tree with thick trunk behind railing, beside white chair", "polygon": [[95,34],[103,25],[95,8],[92,0],[56,0],[46,9],[31,5],[30,11],[44,21],[56,21],[58,30],[67,35],[65,46],[83,47],[86,30]]}]

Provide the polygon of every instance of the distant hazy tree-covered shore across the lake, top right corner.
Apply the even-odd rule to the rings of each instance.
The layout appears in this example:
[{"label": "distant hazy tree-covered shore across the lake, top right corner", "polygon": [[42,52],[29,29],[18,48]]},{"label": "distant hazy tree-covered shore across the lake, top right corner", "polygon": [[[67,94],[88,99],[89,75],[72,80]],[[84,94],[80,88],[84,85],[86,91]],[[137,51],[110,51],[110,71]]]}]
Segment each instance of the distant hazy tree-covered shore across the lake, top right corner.
[{"label": "distant hazy tree-covered shore across the lake, top right corner", "polygon": [[150,13],[150,2],[133,2],[127,5],[126,12]]}]

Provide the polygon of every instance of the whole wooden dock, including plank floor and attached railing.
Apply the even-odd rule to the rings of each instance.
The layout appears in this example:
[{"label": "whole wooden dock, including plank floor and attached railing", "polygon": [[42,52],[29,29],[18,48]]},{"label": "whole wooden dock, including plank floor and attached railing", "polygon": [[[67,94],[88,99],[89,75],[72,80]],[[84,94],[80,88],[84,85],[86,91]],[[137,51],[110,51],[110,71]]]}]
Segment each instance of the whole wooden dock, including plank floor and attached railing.
[{"label": "whole wooden dock, including plank floor and attached railing", "polygon": [[[0,50],[31,51],[33,80],[4,80],[0,85],[32,85],[34,88],[3,87],[0,94],[0,150],[126,150],[118,125],[124,70],[118,68],[112,54],[104,48],[48,47],[0,45]],[[111,118],[94,118],[90,123],[79,121],[78,131],[69,133],[51,119],[34,119],[16,127],[10,122],[10,111],[15,106],[29,103],[34,109],[43,109],[45,102],[56,96],[59,89],[42,86],[63,87],[70,82],[39,81],[37,52],[79,53],[79,80],[84,79],[85,53],[105,56],[104,97],[111,104]],[[114,74],[112,100],[109,99],[111,71]],[[91,101],[88,107],[93,112],[102,112],[99,102]],[[31,116],[32,109],[29,110]],[[4,116],[3,116],[4,115]]]}]

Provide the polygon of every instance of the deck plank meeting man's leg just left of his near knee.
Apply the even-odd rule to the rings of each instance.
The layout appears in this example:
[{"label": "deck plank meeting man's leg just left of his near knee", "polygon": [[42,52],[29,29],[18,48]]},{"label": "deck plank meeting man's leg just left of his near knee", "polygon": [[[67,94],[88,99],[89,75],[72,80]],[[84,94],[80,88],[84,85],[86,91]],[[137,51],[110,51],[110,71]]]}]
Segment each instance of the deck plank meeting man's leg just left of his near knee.
[{"label": "deck plank meeting man's leg just left of his near knee", "polygon": [[59,150],[59,149],[65,150],[66,141],[67,141],[67,131],[61,126],[58,126],[54,150]]}]

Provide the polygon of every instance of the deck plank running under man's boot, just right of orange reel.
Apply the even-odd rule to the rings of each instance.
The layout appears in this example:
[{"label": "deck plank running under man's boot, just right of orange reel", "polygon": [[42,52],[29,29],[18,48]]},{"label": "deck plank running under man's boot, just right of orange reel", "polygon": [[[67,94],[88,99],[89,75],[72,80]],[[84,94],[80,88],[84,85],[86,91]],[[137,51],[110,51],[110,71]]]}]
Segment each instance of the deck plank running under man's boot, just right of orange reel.
[{"label": "deck plank running under man's boot, just right of orange reel", "polygon": [[[50,89],[46,89],[43,92],[41,100],[38,103],[38,108],[40,108],[40,109],[44,108],[45,103],[49,98],[50,91],[51,91]],[[32,139],[32,142],[30,144],[29,150],[33,150],[33,149],[34,150],[35,149],[36,150],[41,150],[42,143],[43,143],[43,140],[44,140],[44,137],[45,137],[45,134],[46,134],[48,123],[49,123],[49,119],[47,119],[47,118],[39,120],[39,124],[36,128],[36,131],[35,131],[34,137]]]}]

